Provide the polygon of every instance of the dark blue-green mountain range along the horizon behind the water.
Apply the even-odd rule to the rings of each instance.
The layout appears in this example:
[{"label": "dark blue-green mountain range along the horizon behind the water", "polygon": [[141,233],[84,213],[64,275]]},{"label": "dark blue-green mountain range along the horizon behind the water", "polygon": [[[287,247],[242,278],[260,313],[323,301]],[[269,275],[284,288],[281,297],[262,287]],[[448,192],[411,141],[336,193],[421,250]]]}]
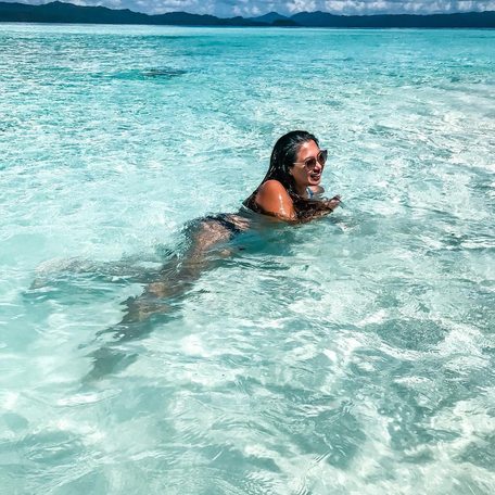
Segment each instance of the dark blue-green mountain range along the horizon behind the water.
[{"label": "dark blue-green mountain range along the horizon behind the water", "polygon": [[169,12],[148,15],[105,7],[79,7],[54,1],[42,5],[0,1],[0,22],[81,23],[81,24],[164,24],[180,26],[306,26],[306,27],[419,27],[495,28],[495,12],[468,12],[433,15],[333,15],[327,12],[301,12],[285,17],[277,12],[259,17],[219,18],[214,15]]}]

